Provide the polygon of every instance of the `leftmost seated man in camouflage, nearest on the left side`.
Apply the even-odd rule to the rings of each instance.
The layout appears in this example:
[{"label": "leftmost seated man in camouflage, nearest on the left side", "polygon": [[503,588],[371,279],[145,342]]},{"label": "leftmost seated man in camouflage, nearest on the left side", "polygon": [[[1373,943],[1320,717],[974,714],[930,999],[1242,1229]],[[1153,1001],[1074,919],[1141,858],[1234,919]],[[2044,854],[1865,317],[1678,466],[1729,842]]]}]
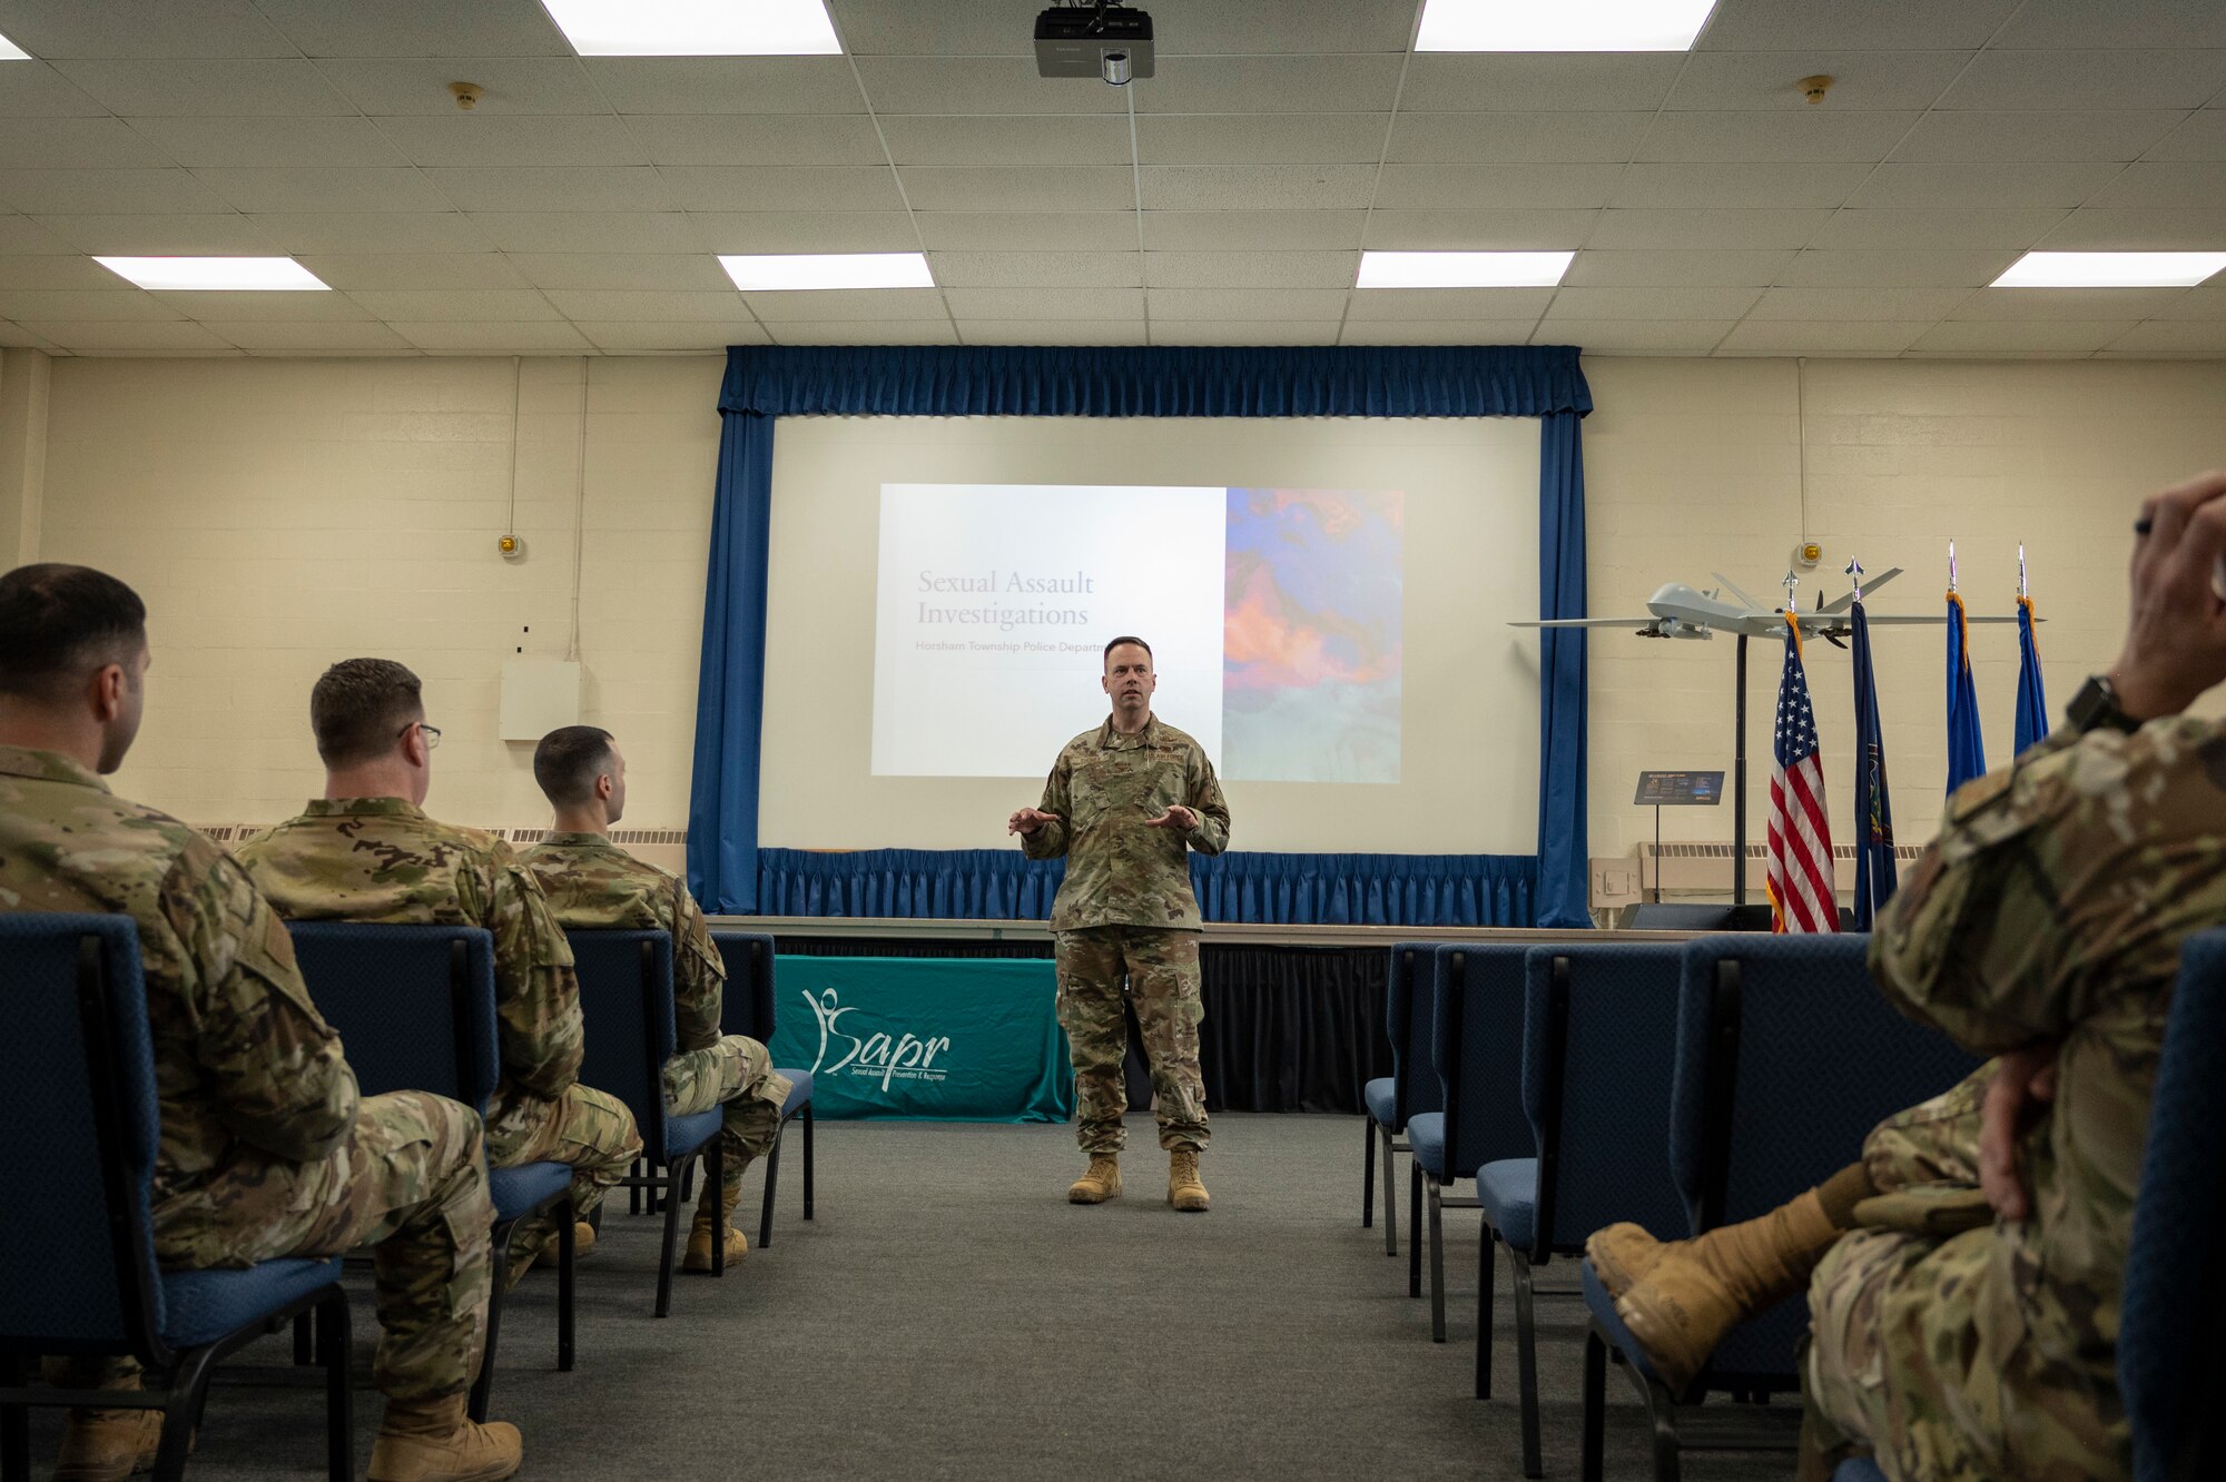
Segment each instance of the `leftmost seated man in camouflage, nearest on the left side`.
[{"label": "leftmost seated man in camouflage, nearest on the left side", "polygon": [[[463,1413],[494,1219],[479,1115],[421,1090],[358,1097],[247,875],[100,781],[138,734],[145,619],[131,587],[80,565],[0,576],[0,910],[138,921],[162,1113],[156,1259],[198,1271],[374,1246],[387,1417],[372,1478],[508,1478],[516,1429]],[[138,1364],[49,1360],[47,1377],[138,1389]],[[160,1433],[160,1411],[71,1411],[53,1475],[120,1482],[154,1466]]]}]

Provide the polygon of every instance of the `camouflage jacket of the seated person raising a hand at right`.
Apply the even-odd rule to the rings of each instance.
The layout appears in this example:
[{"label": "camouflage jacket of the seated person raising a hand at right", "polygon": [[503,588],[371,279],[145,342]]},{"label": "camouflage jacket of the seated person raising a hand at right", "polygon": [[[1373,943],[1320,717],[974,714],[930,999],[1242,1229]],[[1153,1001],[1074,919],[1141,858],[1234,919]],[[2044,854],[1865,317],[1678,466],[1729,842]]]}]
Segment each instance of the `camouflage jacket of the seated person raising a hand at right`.
[{"label": "camouflage jacket of the seated person raising a hand at right", "polygon": [[1870,966],[1903,1012],[1981,1055],[2061,1041],[2021,1148],[2035,1217],[1997,1226],[1972,1293],[2006,1411],[2079,1393],[2124,1444],[2112,1364],[2157,1053],[2179,943],[2222,923],[2226,728],[2188,717],[2059,732],[1966,783],[1881,917]]}]

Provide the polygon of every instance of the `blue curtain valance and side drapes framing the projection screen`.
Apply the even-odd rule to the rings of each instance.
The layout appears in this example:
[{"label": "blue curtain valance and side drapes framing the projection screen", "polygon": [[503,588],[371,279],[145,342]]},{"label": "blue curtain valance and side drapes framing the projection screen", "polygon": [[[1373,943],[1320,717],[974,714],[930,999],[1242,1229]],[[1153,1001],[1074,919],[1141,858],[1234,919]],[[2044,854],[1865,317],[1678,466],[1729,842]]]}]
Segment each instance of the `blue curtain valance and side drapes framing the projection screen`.
[{"label": "blue curtain valance and side drapes framing the projection screen", "polygon": [[[1549,614],[1583,616],[1585,610],[1578,418],[1592,412],[1592,387],[1574,345],[737,345],[728,349],[719,412],[726,425],[710,581],[703,587],[703,668],[688,803],[688,883],[719,915],[786,915],[759,895],[757,850],[766,530],[777,416],[1538,416],[1545,418],[1538,594]],[[1583,926],[1583,636],[1547,636],[1543,654],[1538,850],[1554,861],[1547,879],[1556,886],[1538,895],[1536,910],[1540,923]],[[1529,901],[1531,886],[1520,895]],[[1345,908],[1362,912],[1351,919],[1367,919],[1365,901],[1347,901]],[[1478,910],[1487,908],[1480,903]]]}]

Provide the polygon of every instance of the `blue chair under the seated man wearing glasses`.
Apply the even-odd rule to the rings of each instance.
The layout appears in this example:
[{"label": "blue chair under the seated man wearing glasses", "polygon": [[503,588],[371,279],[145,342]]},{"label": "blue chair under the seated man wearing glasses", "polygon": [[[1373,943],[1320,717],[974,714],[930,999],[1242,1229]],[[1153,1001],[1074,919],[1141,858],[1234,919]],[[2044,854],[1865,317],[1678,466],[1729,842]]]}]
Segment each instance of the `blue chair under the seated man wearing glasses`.
[{"label": "blue chair under the seated man wearing glasses", "polygon": [[[294,961],[325,1024],[341,1030],[356,1088],[430,1090],[485,1115],[501,1073],[494,1026],[494,937],[479,926],[292,921]],[[572,1373],[572,1168],[490,1168],[494,1284],[472,1420],[487,1417],[494,1348],[510,1291],[510,1239],[530,1215],[556,1222],[556,1369]]]}]

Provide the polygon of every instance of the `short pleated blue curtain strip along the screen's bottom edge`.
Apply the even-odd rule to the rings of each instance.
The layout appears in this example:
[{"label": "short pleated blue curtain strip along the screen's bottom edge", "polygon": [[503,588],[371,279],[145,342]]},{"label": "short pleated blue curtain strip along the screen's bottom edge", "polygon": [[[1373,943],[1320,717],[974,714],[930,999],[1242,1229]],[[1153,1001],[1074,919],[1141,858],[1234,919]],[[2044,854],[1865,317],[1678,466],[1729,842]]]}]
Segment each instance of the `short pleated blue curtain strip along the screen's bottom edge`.
[{"label": "short pleated blue curtain strip along the screen's bottom edge", "polygon": [[[759,850],[768,917],[1042,921],[1066,870],[1020,850]],[[1529,854],[1193,854],[1206,921],[1529,926]]]}]

